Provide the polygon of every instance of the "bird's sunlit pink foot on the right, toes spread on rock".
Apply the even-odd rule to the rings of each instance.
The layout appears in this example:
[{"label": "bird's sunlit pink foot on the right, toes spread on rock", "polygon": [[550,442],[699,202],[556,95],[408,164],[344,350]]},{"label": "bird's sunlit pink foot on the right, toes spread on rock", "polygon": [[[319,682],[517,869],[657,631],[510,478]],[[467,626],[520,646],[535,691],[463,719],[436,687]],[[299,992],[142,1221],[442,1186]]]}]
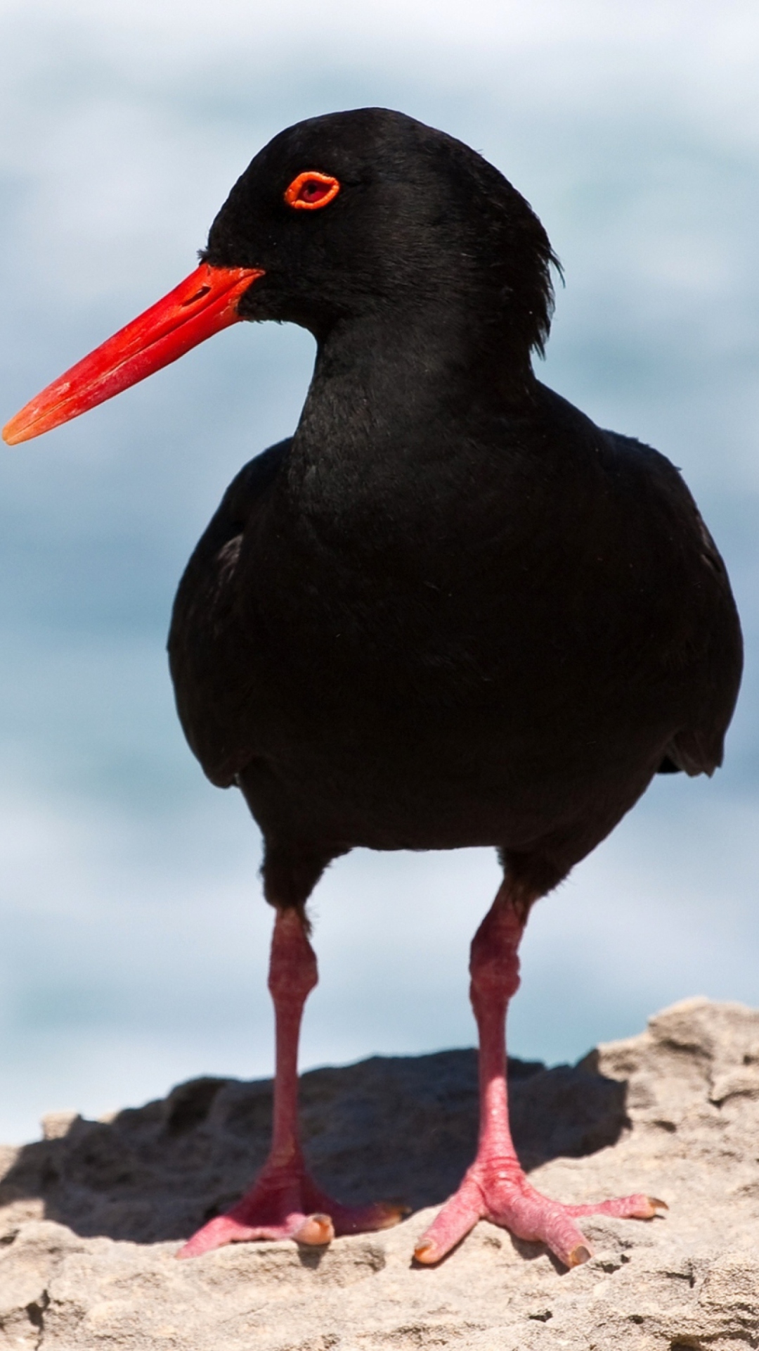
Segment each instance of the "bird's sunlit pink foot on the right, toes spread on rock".
[{"label": "bird's sunlit pink foot on the right, toes spread on rock", "polygon": [[579,1266],[593,1255],[574,1223],[582,1215],[614,1215],[652,1220],[666,1202],[636,1194],[587,1205],[562,1205],[542,1196],[527,1181],[516,1159],[477,1159],[458,1192],[420,1238],[415,1256],[431,1265],[444,1258],[478,1220],[490,1220],[517,1239],[544,1243],[565,1266]]}]

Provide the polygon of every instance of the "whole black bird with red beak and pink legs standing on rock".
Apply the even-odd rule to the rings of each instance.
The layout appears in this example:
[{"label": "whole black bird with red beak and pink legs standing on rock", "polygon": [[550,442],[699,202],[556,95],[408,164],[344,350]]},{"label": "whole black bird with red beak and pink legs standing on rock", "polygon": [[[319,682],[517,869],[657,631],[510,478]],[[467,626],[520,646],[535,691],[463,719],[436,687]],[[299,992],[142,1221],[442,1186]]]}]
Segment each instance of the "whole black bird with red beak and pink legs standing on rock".
[{"label": "whole black bird with red beak and pink legs standing on rock", "polygon": [[355,846],[489,844],[504,867],[471,948],[479,1148],[416,1256],[436,1262],[486,1216],[571,1266],[590,1255],[578,1216],[662,1205],[547,1200],[508,1127],[531,905],[656,771],[712,774],[741,670],[725,567],[678,470],[535,378],[555,262],[524,199],[461,142],[381,108],[313,118],[246,169],[200,267],[5,428],[38,435],[238,319],[316,338],[294,435],[228,488],[169,638],[189,744],[244,794],[277,911],[271,1154],[186,1255],[400,1217],[325,1197],[297,1138],[305,904]]}]

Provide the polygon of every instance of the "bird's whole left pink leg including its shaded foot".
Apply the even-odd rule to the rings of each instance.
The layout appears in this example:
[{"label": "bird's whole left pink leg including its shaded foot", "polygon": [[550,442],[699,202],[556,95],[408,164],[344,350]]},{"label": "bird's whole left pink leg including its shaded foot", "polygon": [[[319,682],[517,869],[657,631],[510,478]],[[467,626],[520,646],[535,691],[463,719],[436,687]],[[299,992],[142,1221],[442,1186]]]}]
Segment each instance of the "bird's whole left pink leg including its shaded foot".
[{"label": "bird's whole left pink leg including its shaded foot", "polygon": [[385,1229],[405,1213],[384,1201],[350,1208],[320,1192],[305,1170],[297,1131],[297,1048],[305,1001],[317,981],[316,955],[297,911],[277,911],[269,963],[274,1001],[277,1070],[274,1125],[269,1158],[246,1194],[209,1220],[177,1256],[193,1258],[247,1239],[296,1239],[330,1243],[336,1233]]}]

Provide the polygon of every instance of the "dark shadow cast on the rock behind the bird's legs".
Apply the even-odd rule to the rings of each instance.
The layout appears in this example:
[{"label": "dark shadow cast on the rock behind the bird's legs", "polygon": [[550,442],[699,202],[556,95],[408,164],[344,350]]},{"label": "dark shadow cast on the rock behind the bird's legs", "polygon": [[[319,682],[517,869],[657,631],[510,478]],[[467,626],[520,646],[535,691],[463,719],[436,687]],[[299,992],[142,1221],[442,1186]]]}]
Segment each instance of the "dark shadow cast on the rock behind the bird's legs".
[{"label": "dark shadow cast on the rock behind the bird's legs", "polygon": [[[593,1061],[544,1069],[509,1061],[515,1143],[525,1169],[614,1144],[628,1124],[625,1085]],[[19,1150],[0,1205],[41,1198],[45,1217],[81,1236],[184,1239],[230,1206],[265,1161],[271,1082],[192,1079],[107,1121],[49,1119]],[[342,1201],[443,1201],[477,1143],[477,1052],[373,1056],[301,1078],[307,1158]],[[65,1132],[65,1133],[63,1133]]]}]

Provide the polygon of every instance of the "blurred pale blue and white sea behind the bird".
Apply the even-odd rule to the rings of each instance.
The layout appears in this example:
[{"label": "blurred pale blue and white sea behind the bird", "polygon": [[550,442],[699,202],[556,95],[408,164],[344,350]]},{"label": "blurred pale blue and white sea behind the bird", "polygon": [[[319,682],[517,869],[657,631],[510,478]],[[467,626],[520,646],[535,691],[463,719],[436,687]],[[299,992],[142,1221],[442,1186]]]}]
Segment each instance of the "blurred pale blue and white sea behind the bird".
[{"label": "blurred pale blue and white sea behind the bird", "polygon": [[[547,384],[679,465],[747,639],[714,780],[659,777],[533,912],[509,1048],[550,1062],[702,993],[759,1002],[755,0],[3,0],[0,420],[176,285],[255,151],[385,105],[482,151],[565,273]],[[0,1139],[192,1075],[269,1074],[271,912],[236,792],[186,748],[173,593],[294,428],[313,340],[235,326],[0,450]],[[474,1042],[488,851],[339,861],[304,1067]]]}]

